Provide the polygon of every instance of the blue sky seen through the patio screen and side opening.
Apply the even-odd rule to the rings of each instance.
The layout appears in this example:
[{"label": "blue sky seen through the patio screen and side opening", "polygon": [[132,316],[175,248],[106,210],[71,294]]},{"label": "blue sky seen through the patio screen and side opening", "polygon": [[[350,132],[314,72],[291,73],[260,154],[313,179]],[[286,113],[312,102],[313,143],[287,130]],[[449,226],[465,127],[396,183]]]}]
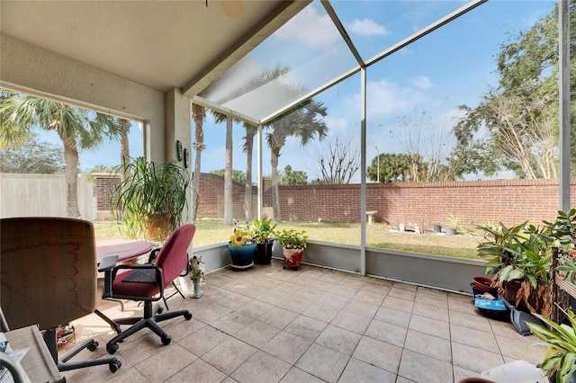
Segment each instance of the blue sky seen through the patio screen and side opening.
[{"label": "blue sky seen through the patio screen and side opening", "polygon": [[[373,0],[336,1],[333,6],[363,58],[371,58],[463,4],[457,1]],[[430,116],[433,125],[432,129],[428,127],[419,135],[418,145],[422,152],[429,149],[427,143],[435,140],[446,143],[446,150],[449,149],[453,140],[448,132],[460,115],[457,107],[461,104],[475,106],[489,86],[496,84],[496,55],[500,45],[509,40],[507,33],[516,36],[519,31],[527,31],[553,7],[554,3],[546,0],[491,0],[369,67],[367,162],[376,156],[375,147],[380,153],[399,153],[407,145],[414,144],[407,142],[409,131],[399,126],[399,120],[418,122],[419,113],[423,111]],[[335,40],[338,36],[327,18],[319,4],[312,4],[302,17],[288,22],[265,41],[262,49],[247,58],[249,65],[254,66],[251,70],[257,72],[275,64],[288,66],[293,69],[289,75],[293,81],[313,88],[324,84],[342,68],[349,68],[353,61],[349,54],[342,56],[342,45]],[[314,64],[322,60],[328,61],[323,61],[320,70],[314,69]],[[331,135],[339,133],[354,138],[355,142],[359,139],[359,91],[360,77],[353,76],[315,97],[328,108],[326,121]],[[202,172],[224,167],[224,134],[225,126],[215,125],[209,115],[204,124],[207,148],[202,152]],[[233,167],[245,171],[246,158],[241,149],[243,136],[242,127],[235,127]],[[134,126],[130,132],[132,156],[141,155],[140,139],[139,129]],[[309,181],[316,178],[318,145],[302,147],[296,139],[289,139],[280,157],[279,170],[291,165],[293,170],[308,174]],[[270,163],[266,149],[265,152],[266,175],[270,174]],[[80,166],[87,170],[94,165],[114,165],[119,156],[119,145],[107,144],[98,150],[83,152]]]}]

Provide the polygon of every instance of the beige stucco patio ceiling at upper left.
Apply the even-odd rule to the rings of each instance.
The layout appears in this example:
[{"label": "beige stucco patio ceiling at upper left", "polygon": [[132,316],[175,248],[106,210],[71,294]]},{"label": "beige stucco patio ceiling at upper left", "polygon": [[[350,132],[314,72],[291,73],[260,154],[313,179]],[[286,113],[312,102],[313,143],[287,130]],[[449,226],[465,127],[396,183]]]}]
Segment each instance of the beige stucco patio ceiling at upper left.
[{"label": "beige stucco patio ceiling at upper left", "polygon": [[[231,3],[237,3],[232,0]],[[159,91],[193,95],[310,3],[0,1],[0,31]]]}]

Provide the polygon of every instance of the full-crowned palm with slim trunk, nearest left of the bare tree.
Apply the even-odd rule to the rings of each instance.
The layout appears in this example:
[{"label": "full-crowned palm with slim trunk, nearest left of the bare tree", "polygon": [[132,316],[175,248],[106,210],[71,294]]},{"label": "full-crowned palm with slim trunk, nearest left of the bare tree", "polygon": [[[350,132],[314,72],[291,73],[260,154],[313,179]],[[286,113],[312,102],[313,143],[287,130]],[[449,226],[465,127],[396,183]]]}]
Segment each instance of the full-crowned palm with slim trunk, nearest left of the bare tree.
[{"label": "full-crowned palm with slim trunk, nearest left of the bare tree", "polygon": [[266,133],[266,142],[271,152],[274,218],[278,222],[282,221],[280,194],[278,193],[278,158],[280,158],[286,138],[290,136],[300,138],[302,146],[307,145],[315,136],[320,139],[325,138],[328,127],[323,118],[326,115],[327,110],[322,102],[310,100],[300,105],[299,109],[270,123],[272,132]]}]

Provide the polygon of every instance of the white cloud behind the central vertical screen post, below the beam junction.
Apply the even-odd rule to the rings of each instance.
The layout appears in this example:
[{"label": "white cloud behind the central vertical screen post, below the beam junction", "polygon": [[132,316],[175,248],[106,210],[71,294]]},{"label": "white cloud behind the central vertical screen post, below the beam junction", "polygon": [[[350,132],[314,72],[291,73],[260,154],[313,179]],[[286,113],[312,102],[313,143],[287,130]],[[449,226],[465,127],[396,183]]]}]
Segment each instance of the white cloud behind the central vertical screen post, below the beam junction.
[{"label": "white cloud behind the central vertical screen post, below the beam junction", "polygon": [[[366,85],[368,115],[392,115],[399,111],[407,111],[420,103],[428,101],[428,95],[419,88],[401,86],[387,80],[369,82]],[[349,105],[359,108],[360,94],[355,94],[347,100]]]}]

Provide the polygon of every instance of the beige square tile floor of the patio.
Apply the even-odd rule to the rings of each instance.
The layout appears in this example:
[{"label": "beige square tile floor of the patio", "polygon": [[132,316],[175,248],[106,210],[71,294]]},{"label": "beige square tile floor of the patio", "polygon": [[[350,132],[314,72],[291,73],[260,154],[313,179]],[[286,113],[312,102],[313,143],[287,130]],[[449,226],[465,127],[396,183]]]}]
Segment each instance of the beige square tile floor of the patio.
[{"label": "beige square tile floor of the patio", "polygon": [[[121,369],[64,372],[68,382],[457,382],[514,360],[538,363],[545,349],[509,322],[482,316],[471,296],[302,265],[225,269],[202,282],[202,298],[164,322],[172,343],[148,330],[120,343]],[[101,305],[111,317],[139,315],[135,302]],[[105,354],[110,326],[77,320],[77,341],[95,337]],[[65,352],[63,347],[61,352]]]}]

